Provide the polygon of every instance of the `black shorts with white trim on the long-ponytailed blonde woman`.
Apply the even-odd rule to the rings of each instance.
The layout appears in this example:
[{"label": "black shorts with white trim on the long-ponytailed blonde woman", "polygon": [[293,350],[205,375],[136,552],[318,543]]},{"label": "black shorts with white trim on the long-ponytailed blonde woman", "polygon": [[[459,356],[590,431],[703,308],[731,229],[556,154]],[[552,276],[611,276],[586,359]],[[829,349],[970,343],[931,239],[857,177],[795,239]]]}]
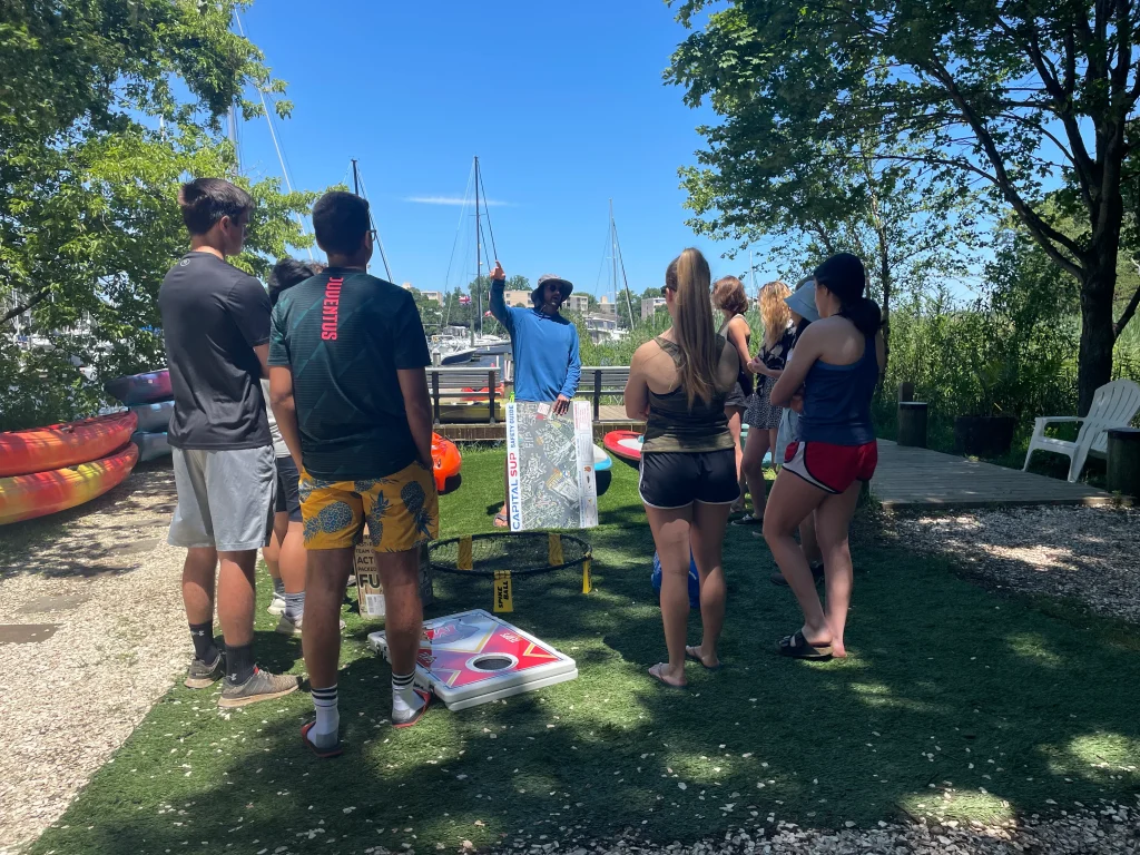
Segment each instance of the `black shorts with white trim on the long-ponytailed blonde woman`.
[{"label": "black shorts with white trim on the long-ponytailed blonde woman", "polygon": [[648,451],[637,484],[650,507],[687,507],[694,502],[731,505],[740,498],[736,451]]}]

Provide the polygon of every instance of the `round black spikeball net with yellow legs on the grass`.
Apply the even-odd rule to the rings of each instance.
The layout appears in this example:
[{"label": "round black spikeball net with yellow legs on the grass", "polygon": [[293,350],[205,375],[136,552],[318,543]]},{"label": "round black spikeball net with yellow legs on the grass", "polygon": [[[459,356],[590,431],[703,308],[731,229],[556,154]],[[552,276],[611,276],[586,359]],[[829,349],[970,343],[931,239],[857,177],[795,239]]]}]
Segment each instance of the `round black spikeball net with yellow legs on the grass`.
[{"label": "round black spikeball net with yellow legs on the grass", "polygon": [[438,540],[427,547],[431,569],[495,580],[495,611],[513,611],[512,579],[581,568],[581,592],[593,588],[589,544],[555,531],[495,531]]}]

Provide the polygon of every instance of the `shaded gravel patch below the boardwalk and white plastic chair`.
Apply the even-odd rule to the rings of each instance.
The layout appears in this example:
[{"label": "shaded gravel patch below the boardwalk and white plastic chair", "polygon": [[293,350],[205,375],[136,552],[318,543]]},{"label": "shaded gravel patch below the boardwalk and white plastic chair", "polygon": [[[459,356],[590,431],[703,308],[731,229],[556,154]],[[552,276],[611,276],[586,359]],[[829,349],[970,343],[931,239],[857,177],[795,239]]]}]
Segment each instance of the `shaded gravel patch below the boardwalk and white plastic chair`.
[{"label": "shaded gravel patch below the boardwalk and white plastic chair", "polygon": [[1068,597],[1140,622],[1140,511],[1025,507],[896,516],[899,539],[994,587]]}]

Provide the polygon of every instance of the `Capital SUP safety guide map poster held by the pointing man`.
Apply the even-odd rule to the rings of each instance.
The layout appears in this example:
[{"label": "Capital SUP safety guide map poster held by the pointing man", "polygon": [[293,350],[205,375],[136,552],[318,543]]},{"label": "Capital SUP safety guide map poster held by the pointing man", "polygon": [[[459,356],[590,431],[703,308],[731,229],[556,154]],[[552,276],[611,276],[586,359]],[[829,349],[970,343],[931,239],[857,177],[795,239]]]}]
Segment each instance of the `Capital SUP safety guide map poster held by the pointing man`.
[{"label": "Capital SUP safety guide map poster held by the pointing man", "polygon": [[597,526],[588,401],[573,401],[562,416],[549,404],[508,404],[506,455],[512,531]]}]

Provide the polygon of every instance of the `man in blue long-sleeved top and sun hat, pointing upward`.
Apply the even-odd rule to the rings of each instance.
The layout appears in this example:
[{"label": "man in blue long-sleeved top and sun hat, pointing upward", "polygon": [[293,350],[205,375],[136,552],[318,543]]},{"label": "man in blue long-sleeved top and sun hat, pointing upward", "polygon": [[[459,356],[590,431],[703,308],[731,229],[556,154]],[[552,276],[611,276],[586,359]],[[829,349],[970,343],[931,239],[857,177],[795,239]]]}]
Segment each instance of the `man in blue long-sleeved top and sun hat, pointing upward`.
[{"label": "man in blue long-sleeved top and sun hat, pointing upward", "polygon": [[[496,261],[491,271],[491,315],[506,327],[514,352],[514,399],[554,405],[563,415],[578,391],[581,357],[578,355],[578,327],[559,314],[573,285],[553,274],[538,277],[530,293],[529,309],[506,304],[503,291],[506,274]],[[506,505],[495,516],[495,524],[506,528]]]}]

